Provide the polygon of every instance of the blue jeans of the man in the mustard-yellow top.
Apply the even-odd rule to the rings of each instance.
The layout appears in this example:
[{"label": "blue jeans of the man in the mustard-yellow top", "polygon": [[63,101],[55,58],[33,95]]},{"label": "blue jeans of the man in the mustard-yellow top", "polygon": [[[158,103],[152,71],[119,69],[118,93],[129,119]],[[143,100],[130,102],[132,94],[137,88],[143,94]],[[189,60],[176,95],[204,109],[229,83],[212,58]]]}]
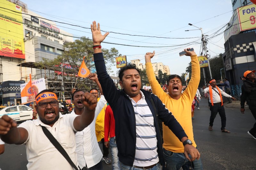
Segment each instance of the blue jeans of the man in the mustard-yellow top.
[{"label": "blue jeans of the man in the mustard-yellow top", "polygon": [[[189,158],[190,155],[189,155]],[[190,162],[184,155],[184,153],[175,153],[167,151],[164,149],[164,160],[165,160],[165,170],[188,170],[192,166],[193,169],[202,170],[203,164],[201,159],[196,159]],[[191,168],[190,168],[191,169]]]}]

